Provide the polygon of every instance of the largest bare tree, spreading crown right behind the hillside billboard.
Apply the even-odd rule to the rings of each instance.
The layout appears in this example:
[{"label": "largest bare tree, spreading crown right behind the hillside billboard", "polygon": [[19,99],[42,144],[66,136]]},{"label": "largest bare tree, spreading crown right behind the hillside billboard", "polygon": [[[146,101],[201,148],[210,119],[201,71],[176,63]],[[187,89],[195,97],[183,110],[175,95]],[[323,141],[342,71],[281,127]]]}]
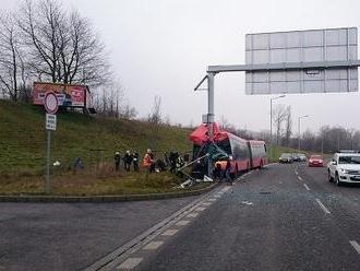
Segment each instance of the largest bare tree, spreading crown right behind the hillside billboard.
[{"label": "largest bare tree, spreading crown right behind the hillside billboard", "polygon": [[77,11],[65,12],[57,0],[26,0],[17,23],[38,81],[96,86],[108,79],[104,45]]}]

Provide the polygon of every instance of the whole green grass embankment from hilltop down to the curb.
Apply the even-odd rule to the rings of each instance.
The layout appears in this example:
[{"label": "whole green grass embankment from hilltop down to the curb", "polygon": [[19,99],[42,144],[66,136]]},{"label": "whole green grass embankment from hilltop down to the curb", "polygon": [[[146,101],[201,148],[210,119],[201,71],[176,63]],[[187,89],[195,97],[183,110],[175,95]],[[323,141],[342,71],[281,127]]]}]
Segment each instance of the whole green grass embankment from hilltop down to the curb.
[{"label": "whole green grass embankment from hilltop down to the curb", "polygon": [[[191,150],[190,130],[142,121],[98,118],[76,113],[58,114],[52,132],[53,193],[105,195],[171,191],[179,179],[169,173],[116,174],[113,153],[147,148],[156,157],[164,152]],[[99,151],[100,150],[100,151]],[[81,157],[84,169],[72,170]],[[46,163],[45,113],[41,107],[0,101],[0,193],[41,193]]]}]

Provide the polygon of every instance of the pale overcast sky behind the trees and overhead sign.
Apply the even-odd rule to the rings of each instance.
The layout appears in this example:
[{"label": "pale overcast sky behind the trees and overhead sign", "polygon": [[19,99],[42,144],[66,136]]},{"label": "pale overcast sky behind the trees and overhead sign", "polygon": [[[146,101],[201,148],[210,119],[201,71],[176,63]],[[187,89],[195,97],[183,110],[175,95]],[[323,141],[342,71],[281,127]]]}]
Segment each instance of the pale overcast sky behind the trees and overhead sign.
[{"label": "pale overcast sky behind the trees and overhead sign", "polygon": [[[248,33],[358,26],[359,0],[62,0],[88,17],[110,51],[130,103],[141,116],[161,96],[164,116],[197,125],[206,92],[193,92],[209,64],[244,63]],[[19,2],[17,2],[19,3]],[[0,9],[13,9],[1,0]],[[269,95],[244,94],[244,73],[215,78],[215,114],[239,128],[269,129]],[[323,125],[360,129],[359,93],[288,95],[293,131]]]}]

